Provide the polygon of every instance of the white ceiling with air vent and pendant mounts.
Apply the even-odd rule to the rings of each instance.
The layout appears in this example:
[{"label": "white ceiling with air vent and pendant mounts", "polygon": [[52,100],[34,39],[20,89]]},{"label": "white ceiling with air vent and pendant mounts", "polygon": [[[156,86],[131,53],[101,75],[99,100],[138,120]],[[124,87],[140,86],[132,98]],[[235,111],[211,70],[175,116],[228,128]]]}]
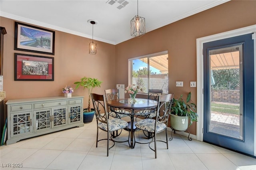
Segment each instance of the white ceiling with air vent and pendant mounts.
[{"label": "white ceiling with air vent and pendant mounts", "polygon": [[[137,15],[137,0],[120,10],[108,0],[0,0],[0,16],[94,40],[118,44],[134,38],[130,20]],[[146,33],[229,0],[139,0],[138,16],[146,21]],[[2,26],[2,25],[1,25]],[[7,30],[8,31],[8,30]]]}]

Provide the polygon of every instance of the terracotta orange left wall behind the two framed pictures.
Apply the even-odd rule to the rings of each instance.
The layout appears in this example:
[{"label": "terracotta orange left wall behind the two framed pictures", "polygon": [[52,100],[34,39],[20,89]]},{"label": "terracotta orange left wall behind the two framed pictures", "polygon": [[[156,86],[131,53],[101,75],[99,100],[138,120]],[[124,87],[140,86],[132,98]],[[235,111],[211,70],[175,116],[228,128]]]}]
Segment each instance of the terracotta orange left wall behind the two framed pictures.
[{"label": "terracotta orange left wall behind the two framed pictures", "polygon": [[[97,54],[88,53],[91,39],[55,31],[55,55],[30,53],[14,50],[14,20],[0,18],[0,25],[6,28],[4,35],[4,91],[6,99],[63,96],[66,85],[75,87],[80,78],[93,77],[103,81],[94,93],[104,94],[104,89],[115,88],[115,45],[97,43]],[[14,53],[25,53],[54,57],[54,81],[14,81]],[[82,87],[74,90],[73,95],[84,96],[84,108],[88,105],[88,91]]]}]

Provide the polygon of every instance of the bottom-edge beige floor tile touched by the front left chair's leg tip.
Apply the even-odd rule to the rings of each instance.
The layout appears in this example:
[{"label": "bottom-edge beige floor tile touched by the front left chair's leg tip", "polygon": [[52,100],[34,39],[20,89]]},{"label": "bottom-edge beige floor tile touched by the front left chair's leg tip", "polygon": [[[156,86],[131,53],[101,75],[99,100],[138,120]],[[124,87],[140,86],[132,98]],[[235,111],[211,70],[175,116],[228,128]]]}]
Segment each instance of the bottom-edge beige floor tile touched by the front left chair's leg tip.
[{"label": "bottom-edge beige floor tile touched by the front left chair's leg tip", "polygon": [[110,170],[114,152],[89,152],[78,170]]}]

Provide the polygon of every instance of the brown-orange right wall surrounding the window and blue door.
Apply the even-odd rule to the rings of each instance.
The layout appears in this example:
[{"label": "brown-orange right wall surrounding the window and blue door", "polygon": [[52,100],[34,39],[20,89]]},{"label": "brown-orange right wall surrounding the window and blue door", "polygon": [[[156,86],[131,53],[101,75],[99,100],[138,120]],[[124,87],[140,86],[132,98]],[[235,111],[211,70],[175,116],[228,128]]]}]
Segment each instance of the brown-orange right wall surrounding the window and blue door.
[{"label": "brown-orange right wall surrounding the window and blue door", "polygon": [[[128,84],[129,58],[168,50],[169,93],[178,98],[191,91],[196,103],[196,88],[190,87],[190,81],[197,81],[196,38],[254,25],[255,17],[256,1],[232,0],[120,43],[116,45],[116,83]],[[184,87],[176,87],[176,81],[183,81]],[[196,123],[189,130],[196,134]]]}]

